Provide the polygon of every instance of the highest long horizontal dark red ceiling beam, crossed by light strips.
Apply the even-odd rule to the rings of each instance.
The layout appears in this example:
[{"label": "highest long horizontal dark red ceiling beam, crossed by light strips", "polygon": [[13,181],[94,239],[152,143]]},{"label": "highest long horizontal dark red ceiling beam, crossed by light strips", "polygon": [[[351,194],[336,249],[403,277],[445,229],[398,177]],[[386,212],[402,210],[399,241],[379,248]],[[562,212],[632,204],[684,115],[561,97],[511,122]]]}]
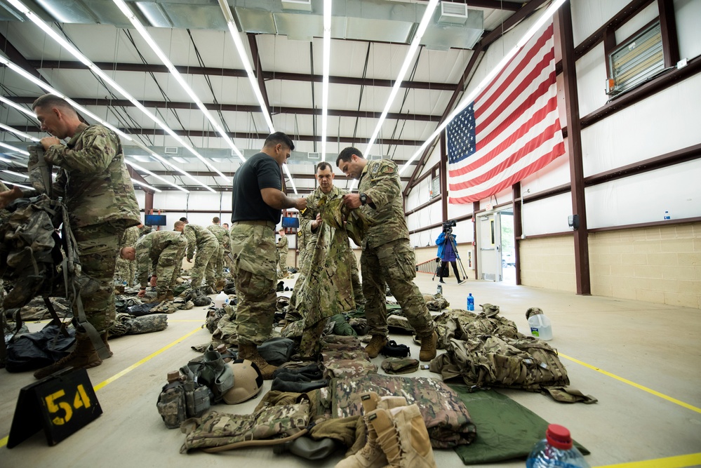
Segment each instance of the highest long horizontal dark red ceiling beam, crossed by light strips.
[{"label": "highest long horizontal dark red ceiling beam, crossed by light strips", "polygon": [[[82,62],[63,60],[28,60],[30,66],[36,69],[88,69]],[[101,69],[114,70],[116,72],[142,72],[142,73],[170,73],[165,65],[146,65],[142,63],[112,63],[94,62]],[[212,75],[212,76],[234,76],[237,78],[247,78],[246,70],[232,68],[213,67],[175,67],[181,74]],[[321,83],[321,75],[308,75],[302,73],[283,72],[263,72],[266,80],[279,79],[288,81],[314,81]],[[392,88],[394,80],[353,78],[350,76],[329,76],[329,83],[350,84],[354,86],[383,86]],[[410,89],[430,89],[433,91],[453,91],[455,83],[431,83],[429,81],[403,81],[402,88]]]}]

